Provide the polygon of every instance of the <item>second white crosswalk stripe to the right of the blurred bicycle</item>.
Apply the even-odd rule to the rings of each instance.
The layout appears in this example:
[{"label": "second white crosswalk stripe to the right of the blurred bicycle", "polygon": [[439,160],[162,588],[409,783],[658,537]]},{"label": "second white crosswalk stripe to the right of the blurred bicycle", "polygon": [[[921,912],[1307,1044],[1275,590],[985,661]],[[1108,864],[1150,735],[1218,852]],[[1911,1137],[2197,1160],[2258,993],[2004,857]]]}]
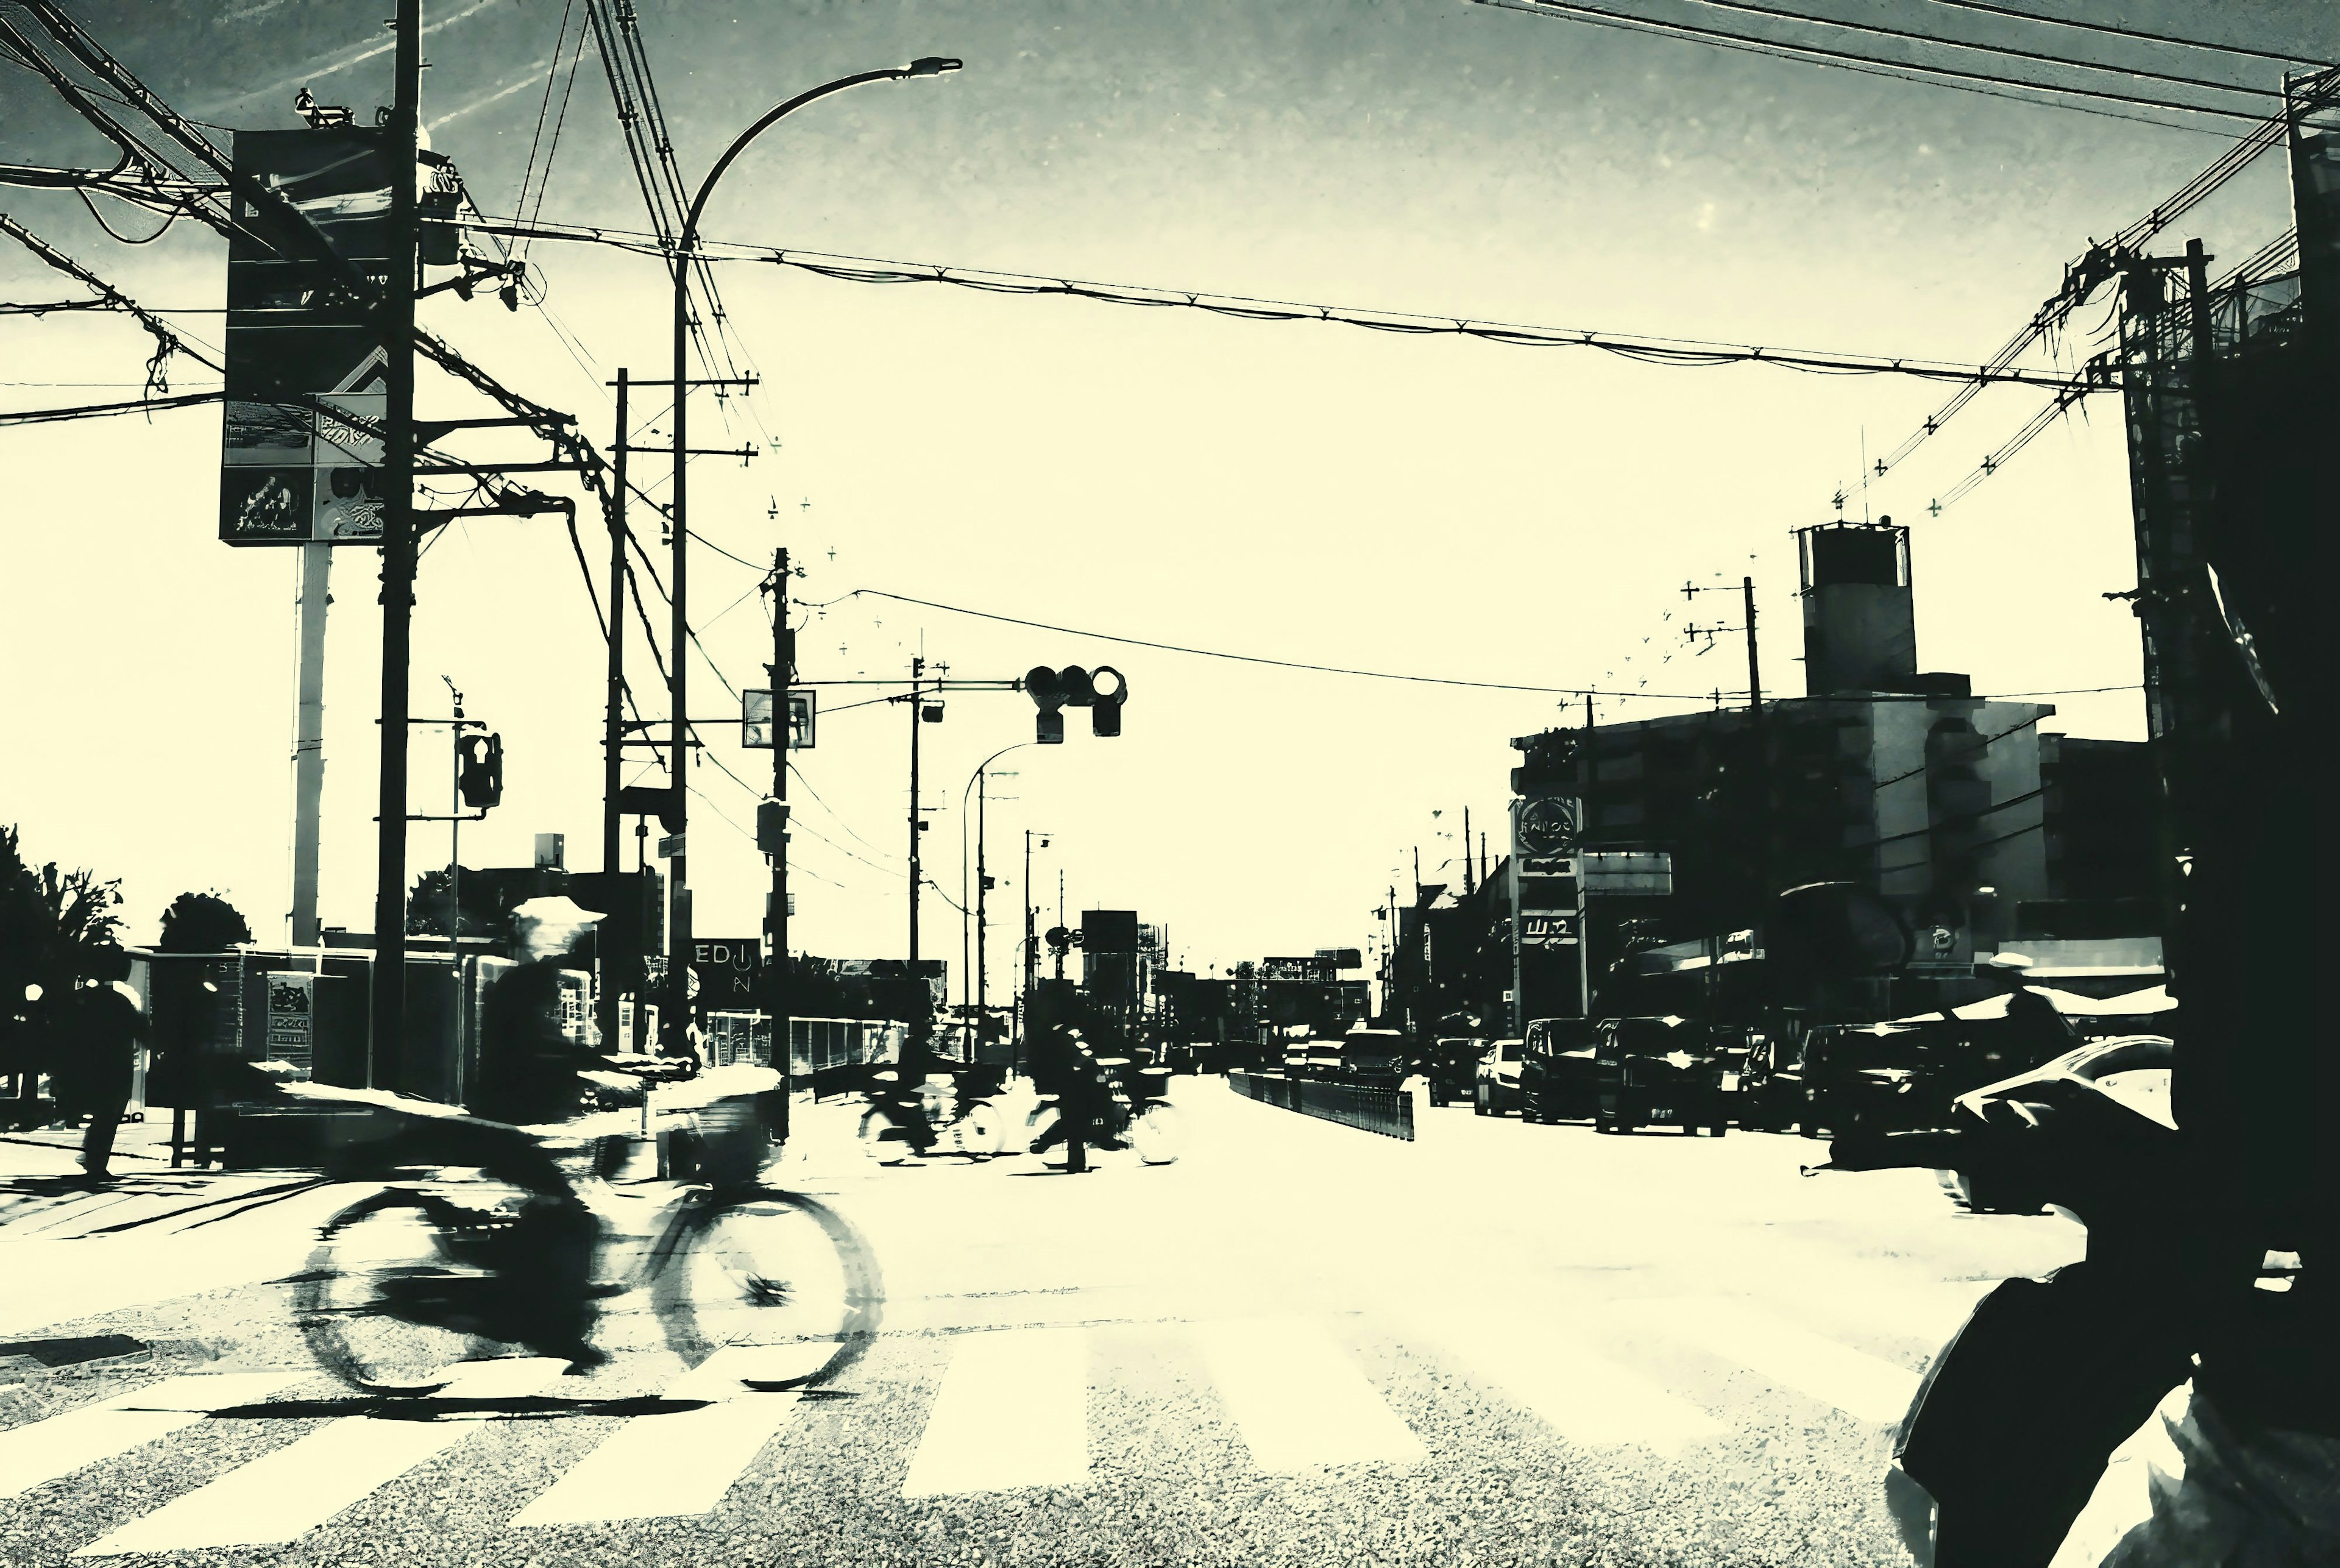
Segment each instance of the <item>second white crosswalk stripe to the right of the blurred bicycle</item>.
[{"label": "second white crosswalk stripe to the right of the blurred bicycle", "polygon": [[1324,1325],[1250,1318],[1198,1322],[1191,1332],[1261,1470],[1423,1458],[1423,1444]]}]

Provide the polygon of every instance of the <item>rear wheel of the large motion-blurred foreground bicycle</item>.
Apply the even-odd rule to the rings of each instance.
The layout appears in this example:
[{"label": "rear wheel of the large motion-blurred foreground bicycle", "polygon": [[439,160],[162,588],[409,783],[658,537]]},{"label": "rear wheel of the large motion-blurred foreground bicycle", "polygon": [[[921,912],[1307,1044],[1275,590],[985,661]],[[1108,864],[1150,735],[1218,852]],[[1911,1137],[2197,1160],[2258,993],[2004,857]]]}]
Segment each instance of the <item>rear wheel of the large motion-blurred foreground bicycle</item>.
[{"label": "rear wheel of the large motion-blurred foreground bicycle", "polygon": [[447,1371],[496,1341],[452,1322],[400,1315],[421,1299],[445,1301],[484,1271],[454,1264],[435,1210],[417,1191],[379,1191],[325,1222],[323,1240],[292,1292],[309,1353],[358,1392],[417,1397],[447,1385]]}]

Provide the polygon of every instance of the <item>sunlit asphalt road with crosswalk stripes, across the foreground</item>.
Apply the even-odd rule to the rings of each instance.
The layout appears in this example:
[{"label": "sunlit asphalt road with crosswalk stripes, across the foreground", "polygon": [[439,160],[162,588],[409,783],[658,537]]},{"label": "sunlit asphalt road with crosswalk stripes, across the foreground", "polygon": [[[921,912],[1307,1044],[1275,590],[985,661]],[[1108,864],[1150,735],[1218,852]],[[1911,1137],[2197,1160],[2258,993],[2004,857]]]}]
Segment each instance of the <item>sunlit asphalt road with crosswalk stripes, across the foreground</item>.
[{"label": "sunlit asphalt road with crosswalk stripes, across the foreground", "polygon": [[[1795,1137],[1425,1107],[1406,1144],[1214,1079],[1179,1109],[1179,1163],[1083,1177],[875,1168],[842,1107],[800,1112],[775,1175],[887,1285],[810,1397],[639,1348],[489,1362],[388,1418],[290,1329],[346,1189],[16,1182],[0,1559],[1898,1563],[1879,1474],[1926,1357],[1991,1280],[2080,1252],[1923,1172],[1804,1180]],[[665,1404],[594,1404],[632,1395]]]}]

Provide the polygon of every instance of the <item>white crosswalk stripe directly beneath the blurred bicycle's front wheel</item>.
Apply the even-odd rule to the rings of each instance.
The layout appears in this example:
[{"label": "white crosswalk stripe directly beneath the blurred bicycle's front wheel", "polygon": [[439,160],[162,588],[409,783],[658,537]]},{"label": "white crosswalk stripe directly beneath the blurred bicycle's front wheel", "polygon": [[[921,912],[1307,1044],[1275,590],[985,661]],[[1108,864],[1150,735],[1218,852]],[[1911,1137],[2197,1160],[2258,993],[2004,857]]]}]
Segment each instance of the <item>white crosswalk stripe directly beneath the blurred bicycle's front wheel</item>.
[{"label": "white crosswalk stripe directly beneath the blurred bicycle's front wheel", "polygon": [[793,1392],[753,1392],[753,1350],[723,1348],[665,1390],[667,1399],[714,1399],[672,1416],[634,1416],[569,1474],[512,1514],[515,1528],[599,1519],[711,1514],[763,1446],[803,1409]]}]

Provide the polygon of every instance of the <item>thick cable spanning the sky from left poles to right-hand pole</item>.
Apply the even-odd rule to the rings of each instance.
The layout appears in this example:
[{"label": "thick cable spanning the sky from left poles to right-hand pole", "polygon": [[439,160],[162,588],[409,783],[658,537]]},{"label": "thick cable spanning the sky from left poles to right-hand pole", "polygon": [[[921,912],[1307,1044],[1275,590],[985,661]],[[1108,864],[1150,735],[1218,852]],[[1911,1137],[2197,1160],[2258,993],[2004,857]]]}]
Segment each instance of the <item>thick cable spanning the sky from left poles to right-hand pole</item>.
[{"label": "thick cable spanning the sky from left poles to right-hand pole", "polygon": [[[536,239],[573,239],[615,246],[655,255],[658,236],[629,229],[606,229],[597,225],[522,225],[510,218],[484,218],[480,225],[494,234],[531,234]],[[950,283],[992,295],[1067,295],[1102,304],[1135,304],[1147,309],[1196,309],[1238,321],[1317,321],[1374,332],[1402,332],[1409,337],[1472,337],[1514,349],[1601,349],[1622,358],[1652,365],[1778,365],[1814,374],[1905,374],[1926,381],[1956,384],[2019,384],[2064,391],[2085,386],[2101,391],[2069,374],[2043,370],[2015,370],[2012,365],[1968,365],[1916,356],[1884,353],[1830,353],[1814,349],[1769,349],[1762,344],[1725,344],[1699,337],[1661,337],[1654,332],[1608,332],[1601,328],[1537,328],[1507,321],[1479,321],[1470,316],[1432,316],[1425,311],[1383,311],[1367,307],[1303,304],[1294,300],[1264,300],[1257,295],[1219,295],[1186,288],[1158,288],[1147,283],[1093,283],[1079,278],[1051,278],[1041,274],[992,271],[983,267],[948,267],[931,262],[889,262],[861,255],[833,255],[821,250],[786,250],[775,246],[737,246],[702,241],[700,250],[709,260],[768,262],[812,271],[824,278],[847,283]]]}]

